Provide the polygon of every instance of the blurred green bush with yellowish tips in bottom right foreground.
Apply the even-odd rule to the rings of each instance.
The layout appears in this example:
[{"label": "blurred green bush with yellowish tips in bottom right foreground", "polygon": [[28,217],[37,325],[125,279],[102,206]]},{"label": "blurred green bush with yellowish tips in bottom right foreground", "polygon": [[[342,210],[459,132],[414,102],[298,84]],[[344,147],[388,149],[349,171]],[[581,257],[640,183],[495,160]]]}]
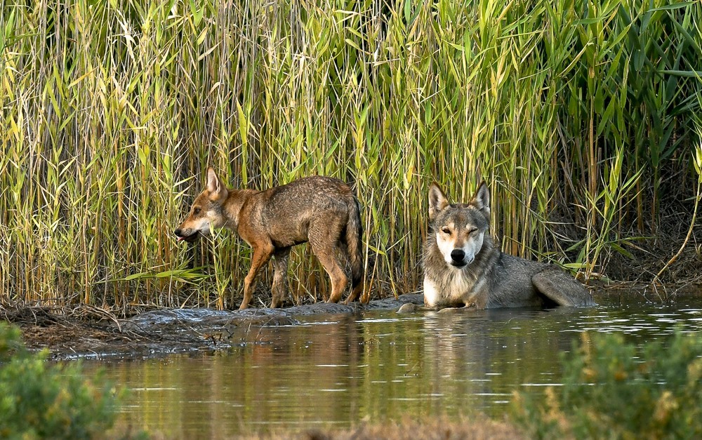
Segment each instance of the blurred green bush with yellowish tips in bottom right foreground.
[{"label": "blurred green bush with yellowish tips in bottom right foreground", "polygon": [[702,337],[643,347],[583,334],[563,356],[561,387],[515,394],[517,421],[537,438],[702,438]]}]

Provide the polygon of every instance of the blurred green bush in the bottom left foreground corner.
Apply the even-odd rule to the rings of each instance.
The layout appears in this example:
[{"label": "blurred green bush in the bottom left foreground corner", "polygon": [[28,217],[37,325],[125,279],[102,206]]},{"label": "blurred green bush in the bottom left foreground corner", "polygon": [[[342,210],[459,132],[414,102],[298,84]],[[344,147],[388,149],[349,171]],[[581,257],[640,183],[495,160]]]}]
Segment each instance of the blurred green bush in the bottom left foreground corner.
[{"label": "blurred green bush in the bottom left foreground corner", "polygon": [[91,439],[112,427],[119,400],[79,363],[51,364],[25,349],[18,328],[0,322],[0,438]]}]

